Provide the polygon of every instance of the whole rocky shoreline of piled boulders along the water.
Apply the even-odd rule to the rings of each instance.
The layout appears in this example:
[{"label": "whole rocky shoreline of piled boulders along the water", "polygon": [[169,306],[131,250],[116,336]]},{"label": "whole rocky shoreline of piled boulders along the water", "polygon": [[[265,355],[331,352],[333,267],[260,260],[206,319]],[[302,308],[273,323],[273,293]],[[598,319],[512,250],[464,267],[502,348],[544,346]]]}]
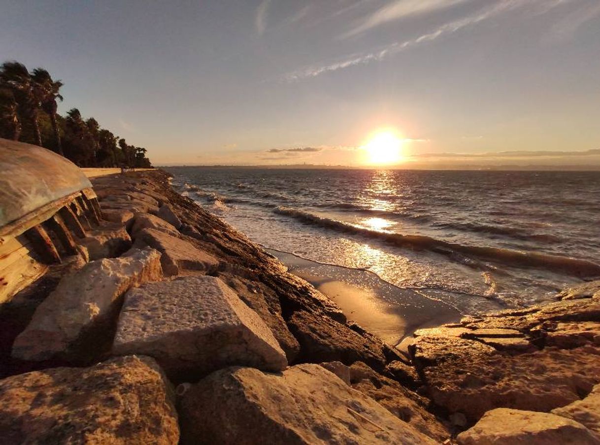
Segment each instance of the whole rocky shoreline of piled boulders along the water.
[{"label": "whole rocky shoreline of piled boulders along the water", "polygon": [[404,354],[166,172],[92,184],[100,230],[0,308],[3,443],[600,444],[600,281]]}]

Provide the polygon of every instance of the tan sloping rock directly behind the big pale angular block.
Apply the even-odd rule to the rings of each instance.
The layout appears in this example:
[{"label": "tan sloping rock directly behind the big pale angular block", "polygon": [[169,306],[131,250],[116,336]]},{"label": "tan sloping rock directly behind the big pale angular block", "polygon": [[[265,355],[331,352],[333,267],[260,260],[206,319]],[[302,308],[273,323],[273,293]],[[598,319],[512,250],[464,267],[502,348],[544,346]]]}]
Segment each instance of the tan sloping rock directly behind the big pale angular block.
[{"label": "tan sloping rock directly behind the big pale angular block", "polygon": [[155,229],[143,229],[137,233],[134,247],[143,246],[154,247],[163,253],[160,262],[166,276],[178,275],[182,269],[210,271],[219,264],[209,253]]}]

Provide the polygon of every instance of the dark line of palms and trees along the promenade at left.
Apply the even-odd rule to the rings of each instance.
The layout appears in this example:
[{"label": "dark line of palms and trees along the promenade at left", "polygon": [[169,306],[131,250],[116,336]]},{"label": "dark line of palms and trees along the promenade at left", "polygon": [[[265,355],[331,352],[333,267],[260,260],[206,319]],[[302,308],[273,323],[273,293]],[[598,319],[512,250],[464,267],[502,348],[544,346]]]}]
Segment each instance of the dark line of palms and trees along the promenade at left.
[{"label": "dark line of palms and trees along the promenade at left", "polygon": [[17,61],[0,65],[0,138],[49,148],[80,167],[151,167],[146,149],[129,145],[77,108],[63,117],[63,83],[44,68],[29,71]]}]

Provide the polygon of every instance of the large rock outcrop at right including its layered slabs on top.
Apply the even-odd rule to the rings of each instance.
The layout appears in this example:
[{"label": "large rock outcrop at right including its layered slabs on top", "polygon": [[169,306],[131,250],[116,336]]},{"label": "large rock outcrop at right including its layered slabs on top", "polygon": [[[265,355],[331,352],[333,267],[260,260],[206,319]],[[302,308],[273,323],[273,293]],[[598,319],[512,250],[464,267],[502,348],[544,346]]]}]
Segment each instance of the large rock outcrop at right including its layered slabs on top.
[{"label": "large rock outcrop at right including its layered slabs on top", "polygon": [[557,301],[468,316],[451,328],[467,331],[424,335],[409,350],[431,399],[449,413],[476,422],[493,408],[550,411],[600,383],[598,321],[595,298]]}]

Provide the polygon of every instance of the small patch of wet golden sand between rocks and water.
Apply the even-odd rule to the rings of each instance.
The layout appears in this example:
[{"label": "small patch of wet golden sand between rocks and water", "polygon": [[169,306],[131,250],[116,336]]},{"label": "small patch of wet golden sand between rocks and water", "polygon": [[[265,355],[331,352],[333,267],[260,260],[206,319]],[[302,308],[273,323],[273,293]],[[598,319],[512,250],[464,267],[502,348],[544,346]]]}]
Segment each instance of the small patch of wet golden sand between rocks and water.
[{"label": "small patch of wet golden sand between rocks and water", "polygon": [[397,346],[416,329],[458,321],[460,312],[415,289],[394,286],[366,270],[320,264],[292,253],[268,249],[289,271],[311,283],[357,322]]}]

